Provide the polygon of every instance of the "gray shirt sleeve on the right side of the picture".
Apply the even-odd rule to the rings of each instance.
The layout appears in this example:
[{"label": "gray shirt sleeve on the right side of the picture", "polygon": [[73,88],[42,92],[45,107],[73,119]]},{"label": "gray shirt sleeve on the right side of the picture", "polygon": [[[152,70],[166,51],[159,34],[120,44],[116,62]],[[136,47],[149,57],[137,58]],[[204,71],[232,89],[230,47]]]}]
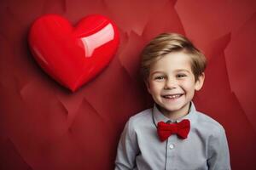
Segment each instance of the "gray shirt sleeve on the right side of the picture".
[{"label": "gray shirt sleeve on the right side of the picture", "polygon": [[219,128],[209,138],[208,160],[209,170],[230,170],[230,151],[224,128]]}]

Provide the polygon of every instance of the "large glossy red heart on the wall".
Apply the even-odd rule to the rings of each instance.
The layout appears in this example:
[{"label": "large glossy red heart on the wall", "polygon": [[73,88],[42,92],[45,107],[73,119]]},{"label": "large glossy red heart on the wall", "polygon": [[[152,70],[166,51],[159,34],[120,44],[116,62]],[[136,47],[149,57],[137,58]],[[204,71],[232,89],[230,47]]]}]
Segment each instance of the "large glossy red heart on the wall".
[{"label": "large glossy red heart on the wall", "polygon": [[73,27],[56,14],[36,20],[28,37],[34,58],[45,72],[73,92],[96,77],[113,58],[117,27],[108,18],[89,15]]}]

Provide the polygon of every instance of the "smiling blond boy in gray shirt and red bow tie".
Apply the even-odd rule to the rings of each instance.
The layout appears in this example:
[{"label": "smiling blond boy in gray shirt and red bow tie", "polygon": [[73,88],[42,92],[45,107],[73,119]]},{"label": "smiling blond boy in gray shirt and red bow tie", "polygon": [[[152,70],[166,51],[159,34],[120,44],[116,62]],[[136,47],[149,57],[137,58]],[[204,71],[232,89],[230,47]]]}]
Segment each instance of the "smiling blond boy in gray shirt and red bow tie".
[{"label": "smiling blond boy in gray shirt and red bow tie", "polygon": [[195,110],[206,59],[186,37],[163,33],[144,48],[142,73],[154,108],[131,116],[118,146],[115,169],[230,169],[222,127]]}]

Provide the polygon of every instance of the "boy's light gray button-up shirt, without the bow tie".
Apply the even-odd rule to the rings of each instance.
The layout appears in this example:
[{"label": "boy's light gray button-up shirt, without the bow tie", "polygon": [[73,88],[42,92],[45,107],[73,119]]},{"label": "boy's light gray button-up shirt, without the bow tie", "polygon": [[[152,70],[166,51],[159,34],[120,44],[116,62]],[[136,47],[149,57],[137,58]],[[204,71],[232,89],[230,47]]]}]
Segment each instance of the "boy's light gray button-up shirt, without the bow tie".
[{"label": "boy's light gray button-up shirt, without the bow tie", "polygon": [[[187,139],[172,134],[160,142],[158,122],[181,122],[189,119]],[[131,116],[121,134],[115,170],[203,170],[230,169],[230,153],[224,131],[218,122],[195,110],[191,102],[189,114],[177,121],[164,116],[154,105]]]}]

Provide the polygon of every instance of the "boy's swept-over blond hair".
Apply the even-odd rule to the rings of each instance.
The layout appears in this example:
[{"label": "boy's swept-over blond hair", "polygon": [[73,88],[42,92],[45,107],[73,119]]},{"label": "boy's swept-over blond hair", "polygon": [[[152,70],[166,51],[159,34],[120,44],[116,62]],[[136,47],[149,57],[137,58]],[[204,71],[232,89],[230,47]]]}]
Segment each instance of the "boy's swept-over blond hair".
[{"label": "boy's swept-over blond hair", "polygon": [[192,42],[183,35],[177,33],[162,33],[154,37],[143,49],[141,73],[144,80],[148,79],[150,67],[165,54],[184,52],[191,57],[191,70],[195,75],[195,81],[202,75],[207,66],[207,59],[195,48]]}]

